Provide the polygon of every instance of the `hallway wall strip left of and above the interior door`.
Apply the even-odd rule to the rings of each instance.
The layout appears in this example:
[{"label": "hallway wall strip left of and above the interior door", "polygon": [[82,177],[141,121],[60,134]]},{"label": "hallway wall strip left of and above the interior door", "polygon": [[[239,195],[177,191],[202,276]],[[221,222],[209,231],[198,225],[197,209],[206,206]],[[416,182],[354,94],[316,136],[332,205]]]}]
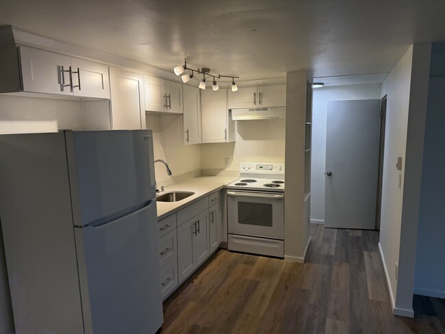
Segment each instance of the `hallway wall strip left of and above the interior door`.
[{"label": "hallway wall strip left of and above the interior door", "polygon": [[[380,84],[327,86],[314,89],[312,108],[311,222],[325,222],[327,102],[380,99]],[[376,162],[377,163],[377,162]]]}]

